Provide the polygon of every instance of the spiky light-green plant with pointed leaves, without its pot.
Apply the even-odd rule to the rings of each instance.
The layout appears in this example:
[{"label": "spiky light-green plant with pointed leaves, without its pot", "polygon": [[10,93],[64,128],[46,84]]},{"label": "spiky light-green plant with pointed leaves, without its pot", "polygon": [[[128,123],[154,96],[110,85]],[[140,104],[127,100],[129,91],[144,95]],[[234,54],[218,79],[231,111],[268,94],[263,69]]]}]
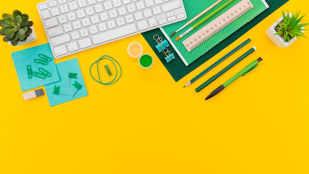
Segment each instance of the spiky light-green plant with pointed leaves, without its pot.
[{"label": "spiky light-green plant with pointed leaves, without its pot", "polygon": [[280,35],[283,38],[283,42],[289,42],[294,37],[300,39],[299,37],[305,37],[304,33],[302,31],[306,30],[303,27],[308,25],[306,24],[300,24],[300,22],[303,20],[303,17],[298,17],[300,14],[299,12],[293,13],[292,16],[289,15],[289,10],[287,10],[287,14],[282,10],[282,16],[283,20],[281,22],[278,22],[277,27],[275,28],[276,32],[275,35]]}]

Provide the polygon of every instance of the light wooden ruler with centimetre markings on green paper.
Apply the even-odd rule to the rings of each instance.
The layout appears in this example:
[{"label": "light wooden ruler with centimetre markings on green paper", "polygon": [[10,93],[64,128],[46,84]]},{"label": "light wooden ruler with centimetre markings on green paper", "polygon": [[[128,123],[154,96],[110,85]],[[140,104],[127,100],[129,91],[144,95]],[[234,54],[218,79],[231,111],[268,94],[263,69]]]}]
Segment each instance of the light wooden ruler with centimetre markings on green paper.
[{"label": "light wooden ruler with centimetre markings on green paper", "polygon": [[202,44],[204,41],[218,33],[224,27],[231,24],[241,15],[249,11],[253,8],[253,4],[250,0],[241,0],[228,11],[221,14],[219,17],[208,23],[206,26],[198,30],[192,36],[187,38],[185,41],[182,42],[186,49],[190,52],[198,45]]}]

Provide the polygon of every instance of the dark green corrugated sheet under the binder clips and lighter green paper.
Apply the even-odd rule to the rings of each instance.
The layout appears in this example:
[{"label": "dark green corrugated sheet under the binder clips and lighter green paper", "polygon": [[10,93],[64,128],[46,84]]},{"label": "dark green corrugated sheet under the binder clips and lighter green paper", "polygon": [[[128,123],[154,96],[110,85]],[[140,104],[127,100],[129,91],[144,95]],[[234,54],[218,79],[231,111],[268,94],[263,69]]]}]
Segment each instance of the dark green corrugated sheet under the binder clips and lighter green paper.
[{"label": "dark green corrugated sheet under the binder clips and lighter green paper", "polygon": [[[189,3],[190,0],[183,0],[184,3]],[[206,2],[208,0],[205,0]],[[145,38],[145,40],[148,42],[148,44],[152,47],[154,52],[156,53],[159,60],[162,62],[162,64],[165,66],[169,74],[172,76],[172,78],[175,80],[175,82],[179,81],[183,77],[185,77],[187,74],[192,72],[195,68],[212,58],[214,55],[216,55],[218,52],[223,50],[228,45],[232,44],[235,40],[237,40],[240,36],[245,34],[247,31],[249,31],[252,27],[257,25],[259,22],[261,22],[263,19],[265,19],[268,15],[270,15],[273,11],[278,9],[280,6],[282,6],[284,3],[286,3],[288,0],[266,0],[266,2],[269,4],[269,8],[264,10],[261,14],[257,15],[255,18],[253,18],[250,22],[246,23],[242,27],[240,27],[238,30],[233,32],[230,36],[228,36],[226,39],[221,41],[220,43],[213,46],[211,49],[209,49],[205,54],[201,55],[199,58],[194,60],[192,63],[190,63],[188,66],[184,64],[184,62],[181,60],[178,53],[175,51],[175,49],[172,46],[169,46],[168,49],[174,53],[175,59],[173,59],[170,62],[166,62],[165,55],[161,52],[157,52],[155,45],[156,42],[154,41],[153,37],[154,35],[159,35],[162,37],[162,39],[166,39],[166,37],[163,35],[160,29],[151,30],[145,33],[142,33],[142,36]],[[252,2],[252,1],[251,1]],[[202,6],[202,5],[201,5]],[[203,7],[205,9],[207,7]],[[189,11],[187,11],[187,14],[189,14]],[[188,17],[190,20],[190,16]],[[181,32],[180,32],[181,33]]]}]

